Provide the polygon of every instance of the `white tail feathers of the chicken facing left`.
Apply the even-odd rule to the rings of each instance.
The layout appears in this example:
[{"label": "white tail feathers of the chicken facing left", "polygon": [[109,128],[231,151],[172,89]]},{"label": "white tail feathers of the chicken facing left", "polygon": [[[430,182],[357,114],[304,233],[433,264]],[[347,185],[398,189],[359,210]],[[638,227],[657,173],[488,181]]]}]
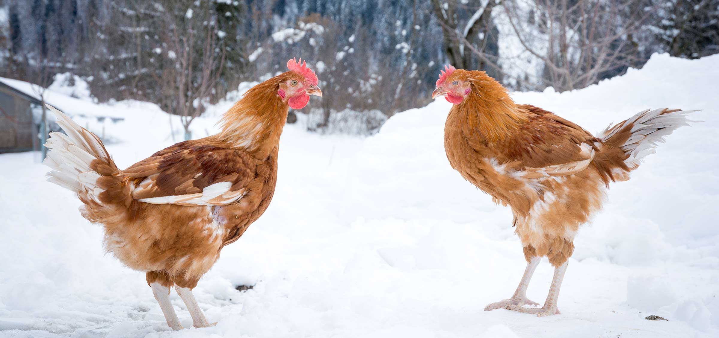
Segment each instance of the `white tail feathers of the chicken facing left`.
[{"label": "white tail feathers of the chicken facing left", "polygon": [[644,156],[654,154],[657,144],[664,142],[664,137],[681,126],[689,126],[687,114],[694,111],[661,108],[654,111],[641,111],[627,121],[605,129],[600,139],[608,140],[626,126],[632,126],[631,136],[624,142],[621,149],[629,155],[624,161],[633,168],[641,163]]}]

